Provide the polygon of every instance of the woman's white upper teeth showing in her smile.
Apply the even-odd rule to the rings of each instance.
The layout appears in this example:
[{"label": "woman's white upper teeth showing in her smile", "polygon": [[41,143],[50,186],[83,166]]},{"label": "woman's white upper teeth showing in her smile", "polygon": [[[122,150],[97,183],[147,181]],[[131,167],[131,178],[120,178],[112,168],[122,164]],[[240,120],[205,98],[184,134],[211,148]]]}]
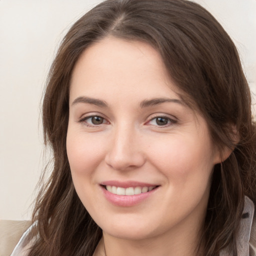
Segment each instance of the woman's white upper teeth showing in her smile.
[{"label": "woman's white upper teeth showing in her smile", "polygon": [[145,193],[147,191],[151,191],[154,189],[156,186],[136,186],[136,187],[119,187],[119,186],[106,186],[106,190],[113,193],[113,194],[118,194],[118,195],[134,195],[134,194],[140,194],[140,193]]}]

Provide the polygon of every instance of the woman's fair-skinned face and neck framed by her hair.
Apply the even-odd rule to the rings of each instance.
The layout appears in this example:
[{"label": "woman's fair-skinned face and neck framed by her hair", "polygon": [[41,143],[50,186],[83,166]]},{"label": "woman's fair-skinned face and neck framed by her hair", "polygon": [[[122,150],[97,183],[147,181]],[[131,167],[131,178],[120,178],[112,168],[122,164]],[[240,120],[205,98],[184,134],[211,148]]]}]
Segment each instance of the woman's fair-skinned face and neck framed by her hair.
[{"label": "woman's fair-skinned face and neck framed by her hair", "polygon": [[107,256],[196,255],[220,154],[177,91],[159,53],[139,41],[104,38],[74,67],[67,156]]}]

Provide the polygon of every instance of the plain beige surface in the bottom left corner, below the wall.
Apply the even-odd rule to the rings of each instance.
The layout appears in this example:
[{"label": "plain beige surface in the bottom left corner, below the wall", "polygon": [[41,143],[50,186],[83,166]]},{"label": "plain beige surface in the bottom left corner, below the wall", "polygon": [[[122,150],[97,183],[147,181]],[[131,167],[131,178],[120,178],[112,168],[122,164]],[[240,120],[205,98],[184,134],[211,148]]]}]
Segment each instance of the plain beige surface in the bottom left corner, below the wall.
[{"label": "plain beige surface in the bottom left corner, below the wall", "polygon": [[9,256],[22,234],[31,225],[28,220],[0,220],[0,255]]}]

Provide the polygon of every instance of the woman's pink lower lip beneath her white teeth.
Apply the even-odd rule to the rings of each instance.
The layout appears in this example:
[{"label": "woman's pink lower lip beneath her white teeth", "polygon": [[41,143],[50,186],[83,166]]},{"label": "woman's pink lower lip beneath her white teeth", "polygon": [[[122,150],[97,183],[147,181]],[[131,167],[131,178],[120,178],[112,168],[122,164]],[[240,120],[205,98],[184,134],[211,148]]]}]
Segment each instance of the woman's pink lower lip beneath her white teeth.
[{"label": "woman's pink lower lip beneath her white teeth", "polygon": [[140,194],[119,195],[119,194],[110,193],[105,189],[105,187],[101,186],[104,196],[109,202],[117,206],[124,206],[124,207],[133,206],[142,202],[143,200],[148,198],[150,195],[152,195],[155,192],[155,190],[157,190],[157,188],[158,187],[152,189],[151,191],[140,193]]}]

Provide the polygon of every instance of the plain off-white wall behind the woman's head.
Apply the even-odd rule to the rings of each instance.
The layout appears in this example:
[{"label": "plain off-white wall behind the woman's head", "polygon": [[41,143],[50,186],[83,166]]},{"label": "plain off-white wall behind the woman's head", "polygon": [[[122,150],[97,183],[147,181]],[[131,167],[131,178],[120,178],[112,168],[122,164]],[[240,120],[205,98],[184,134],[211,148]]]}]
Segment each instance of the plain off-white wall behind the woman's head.
[{"label": "plain off-white wall behind the woman's head", "polygon": [[[236,43],[256,93],[256,0],[195,0]],[[0,0],[0,218],[29,219],[43,157],[40,99],[57,44],[100,0]]]}]

